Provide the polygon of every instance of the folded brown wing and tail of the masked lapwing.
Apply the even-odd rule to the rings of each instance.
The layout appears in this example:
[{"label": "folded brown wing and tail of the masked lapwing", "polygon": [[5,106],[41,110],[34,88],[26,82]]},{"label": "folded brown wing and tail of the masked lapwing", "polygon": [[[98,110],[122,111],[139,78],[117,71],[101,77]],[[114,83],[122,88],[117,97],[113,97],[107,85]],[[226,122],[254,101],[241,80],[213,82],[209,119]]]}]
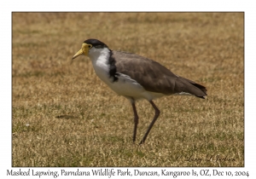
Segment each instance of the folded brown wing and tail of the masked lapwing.
[{"label": "folded brown wing and tail of the masked lapwing", "polygon": [[145,90],[165,95],[185,92],[201,98],[207,95],[207,89],[204,86],[178,77],[156,61],[126,52],[112,51],[112,53],[116,72],[135,79]]}]

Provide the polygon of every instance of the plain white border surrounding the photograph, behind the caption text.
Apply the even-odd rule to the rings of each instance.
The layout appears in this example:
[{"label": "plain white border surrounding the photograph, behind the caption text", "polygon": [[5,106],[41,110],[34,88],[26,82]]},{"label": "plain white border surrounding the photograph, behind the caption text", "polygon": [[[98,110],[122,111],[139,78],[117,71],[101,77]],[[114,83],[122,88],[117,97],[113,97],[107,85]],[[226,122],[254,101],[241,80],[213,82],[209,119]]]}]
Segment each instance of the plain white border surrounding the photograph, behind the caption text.
[{"label": "plain white border surrounding the photograph, behind the caption text", "polygon": [[[217,170],[249,171],[250,178],[256,178],[255,166],[255,50],[256,50],[256,13],[253,1],[6,1],[1,3],[1,178],[6,178],[7,170],[11,169],[11,12],[13,11],[244,11],[245,12],[245,167],[244,168],[216,168]],[[253,118],[254,117],[254,118]],[[17,169],[17,168],[16,168]],[[38,169],[38,168],[36,168]],[[42,168],[39,170],[48,170]],[[61,170],[62,168],[51,168]],[[64,168],[75,170],[74,168]],[[92,168],[82,168],[91,170]],[[124,168],[123,168],[124,169]],[[136,168],[130,168],[135,170]],[[194,168],[171,168],[171,170],[193,170]],[[215,168],[195,168],[195,170],[214,170]],[[26,170],[26,168],[22,168]],[[117,170],[115,168],[115,170]],[[124,169],[125,170],[125,169]],[[140,168],[140,170],[161,170],[160,168]],[[5,177],[3,177],[5,176]],[[17,177],[17,176],[9,176]],[[31,176],[32,177],[32,176]],[[33,176],[37,177],[38,176]],[[53,178],[52,176],[50,176]],[[170,177],[170,176],[167,176]],[[58,178],[61,178],[59,176]],[[67,178],[67,177],[66,177]],[[105,176],[105,178],[107,178]],[[117,178],[117,177],[116,177]],[[177,178],[185,178],[178,176]],[[188,177],[186,177],[188,178]]]}]

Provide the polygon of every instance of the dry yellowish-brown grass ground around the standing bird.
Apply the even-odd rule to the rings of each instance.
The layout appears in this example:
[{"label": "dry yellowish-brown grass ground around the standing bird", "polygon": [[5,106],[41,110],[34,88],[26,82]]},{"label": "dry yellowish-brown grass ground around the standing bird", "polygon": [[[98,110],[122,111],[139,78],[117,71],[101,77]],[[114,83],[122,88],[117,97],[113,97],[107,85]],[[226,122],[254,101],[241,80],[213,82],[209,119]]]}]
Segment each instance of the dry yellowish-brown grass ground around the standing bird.
[{"label": "dry yellowish-brown grass ground around the standing bird", "polygon": [[[242,13],[13,13],[13,166],[243,166]],[[208,99],[167,96],[160,118],[71,58],[87,38],[147,56],[207,86]]]}]

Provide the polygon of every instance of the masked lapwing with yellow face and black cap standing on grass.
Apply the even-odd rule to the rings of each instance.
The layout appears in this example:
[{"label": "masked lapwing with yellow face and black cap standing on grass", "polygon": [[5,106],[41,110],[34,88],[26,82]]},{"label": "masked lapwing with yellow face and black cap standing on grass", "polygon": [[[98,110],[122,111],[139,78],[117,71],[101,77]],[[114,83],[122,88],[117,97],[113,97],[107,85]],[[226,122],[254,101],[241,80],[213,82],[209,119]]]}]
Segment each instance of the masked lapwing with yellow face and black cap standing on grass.
[{"label": "masked lapwing with yellow face and black cap standing on grass", "polygon": [[160,116],[160,110],[153,100],[165,95],[194,95],[201,99],[207,98],[205,86],[174,74],[157,61],[109,49],[107,44],[95,38],[85,40],[82,48],[73,55],[72,61],[80,55],[90,58],[96,75],[110,89],[131,102],[134,114],[133,143],[136,141],[139,119],[136,101],[147,100],[154,108],[154,118],[139,143],[143,144]]}]

